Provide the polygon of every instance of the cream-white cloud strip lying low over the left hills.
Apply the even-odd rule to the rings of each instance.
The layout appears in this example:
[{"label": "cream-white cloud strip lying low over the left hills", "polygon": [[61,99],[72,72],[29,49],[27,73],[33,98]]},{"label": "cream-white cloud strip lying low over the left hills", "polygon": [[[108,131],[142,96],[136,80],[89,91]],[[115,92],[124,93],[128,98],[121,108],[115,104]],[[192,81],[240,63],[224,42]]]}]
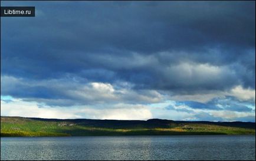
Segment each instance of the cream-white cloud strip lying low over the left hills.
[{"label": "cream-white cloud strip lying low over the left hills", "polygon": [[12,102],[8,103],[1,100],[1,116],[57,119],[147,120],[152,118],[152,113],[143,105],[117,104],[112,107],[107,106],[104,109],[91,106],[73,106],[72,108],[51,108],[44,106],[40,108],[37,102],[13,99]]}]

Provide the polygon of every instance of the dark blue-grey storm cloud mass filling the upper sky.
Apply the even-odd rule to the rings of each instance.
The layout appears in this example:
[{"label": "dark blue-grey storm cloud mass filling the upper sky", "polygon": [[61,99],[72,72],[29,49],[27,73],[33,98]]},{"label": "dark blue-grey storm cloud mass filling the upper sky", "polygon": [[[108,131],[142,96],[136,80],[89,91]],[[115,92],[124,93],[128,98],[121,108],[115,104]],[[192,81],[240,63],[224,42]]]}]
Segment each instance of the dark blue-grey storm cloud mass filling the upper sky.
[{"label": "dark blue-grey storm cloud mass filling the upper sky", "polygon": [[[255,89],[255,2],[19,4],[35,6],[36,16],[1,18],[1,75],[128,82],[173,95]],[[63,97],[47,85],[19,89],[26,92],[1,94]]]}]

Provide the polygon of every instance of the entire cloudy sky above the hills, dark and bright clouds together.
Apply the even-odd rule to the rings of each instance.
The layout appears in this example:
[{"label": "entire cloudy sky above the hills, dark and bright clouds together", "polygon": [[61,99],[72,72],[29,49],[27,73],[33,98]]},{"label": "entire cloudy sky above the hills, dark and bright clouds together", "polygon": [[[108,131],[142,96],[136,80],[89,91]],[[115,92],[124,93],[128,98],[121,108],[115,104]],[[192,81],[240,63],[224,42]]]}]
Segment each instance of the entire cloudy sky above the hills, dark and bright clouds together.
[{"label": "entire cloudy sky above the hills, dark and bright clouds together", "polygon": [[255,1],[1,6],[1,116],[255,122]]}]

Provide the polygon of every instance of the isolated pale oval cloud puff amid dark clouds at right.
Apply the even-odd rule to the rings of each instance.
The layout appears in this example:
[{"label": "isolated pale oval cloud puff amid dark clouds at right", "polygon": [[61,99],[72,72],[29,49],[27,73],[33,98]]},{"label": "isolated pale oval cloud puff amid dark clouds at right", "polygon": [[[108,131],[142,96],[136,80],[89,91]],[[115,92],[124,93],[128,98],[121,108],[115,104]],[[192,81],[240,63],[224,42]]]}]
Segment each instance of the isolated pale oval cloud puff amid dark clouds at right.
[{"label": "isolated pale oval cloud puff amid dark clouds at right", "polygon": [[214,66],[208,63],[182,62],[170,65],[164,75],[176,85],[191,88],[193,86],[216,86],[224,80],[236,78],[235,72],[228,66]]}]

